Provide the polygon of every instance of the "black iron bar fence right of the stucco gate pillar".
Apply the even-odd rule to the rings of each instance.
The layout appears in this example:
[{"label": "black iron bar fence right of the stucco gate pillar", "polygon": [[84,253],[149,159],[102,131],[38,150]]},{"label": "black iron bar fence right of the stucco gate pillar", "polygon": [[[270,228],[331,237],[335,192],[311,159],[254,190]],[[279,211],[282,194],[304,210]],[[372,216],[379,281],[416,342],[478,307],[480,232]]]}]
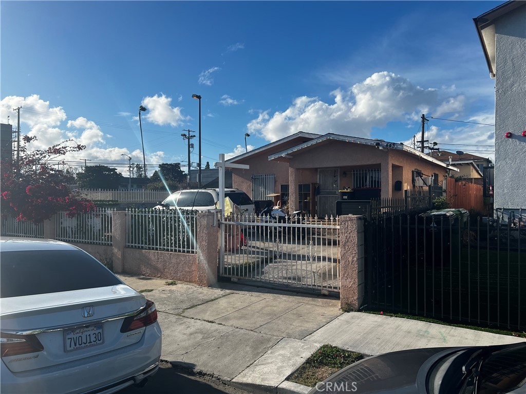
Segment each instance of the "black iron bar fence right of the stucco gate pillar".
[{"label": "black iron bar fence right of the stucco gate pillar", "polygon": [[526,223],[517,216],[366,221],[368,309],[526,328]]}]

